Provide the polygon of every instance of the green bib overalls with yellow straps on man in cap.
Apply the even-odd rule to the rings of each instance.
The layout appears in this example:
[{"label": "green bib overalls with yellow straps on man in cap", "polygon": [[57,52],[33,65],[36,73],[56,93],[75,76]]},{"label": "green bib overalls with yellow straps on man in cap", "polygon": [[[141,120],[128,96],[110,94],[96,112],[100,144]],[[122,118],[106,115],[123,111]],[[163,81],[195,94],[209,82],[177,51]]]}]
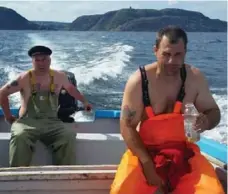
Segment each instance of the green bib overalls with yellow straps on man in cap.
[{"label": "green bib overalls with yellow straps on man in cap", "polygon": [[58,96],[55,94],[53,71],[50,70],[49,91],[36,91],[35,77],[31,71],[29,75],[32,93],[27,112],[11,127],[10,166],[29,166],[37,140],[52,151],[54,165],[75,164],[76,133],[66,128],[57,117]]}]

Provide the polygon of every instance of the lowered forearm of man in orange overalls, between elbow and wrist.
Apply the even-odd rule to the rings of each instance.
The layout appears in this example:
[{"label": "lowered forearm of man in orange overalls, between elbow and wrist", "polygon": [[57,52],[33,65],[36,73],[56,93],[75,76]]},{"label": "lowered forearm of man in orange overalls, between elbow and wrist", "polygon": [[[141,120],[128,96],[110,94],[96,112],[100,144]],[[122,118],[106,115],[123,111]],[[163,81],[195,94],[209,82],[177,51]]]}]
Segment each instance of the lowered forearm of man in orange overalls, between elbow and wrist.
[{"label": "lowered forearm of man in orange overalls, between elbow and wrist", "polygon": [[122,126],[122,136],[127,144],[127,147],[144,163],[151,159],[145,145],[143,144],[136,129],[132,129],[128,126]]}]

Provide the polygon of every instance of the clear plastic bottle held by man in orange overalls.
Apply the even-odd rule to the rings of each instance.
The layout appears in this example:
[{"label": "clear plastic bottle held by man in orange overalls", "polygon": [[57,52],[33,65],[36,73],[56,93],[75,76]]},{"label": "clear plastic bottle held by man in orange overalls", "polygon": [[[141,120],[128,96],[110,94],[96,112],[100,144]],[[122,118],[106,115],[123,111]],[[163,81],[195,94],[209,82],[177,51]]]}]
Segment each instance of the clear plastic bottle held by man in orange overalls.
[{"label": "clear plastic bottle held by man in orange overalls", "polygon": [[193,103],[185,104],[184,110],[184,128],[185,135],[190,142],[199,141],[200,135],[193,129],[193,126],[196,122],[196,118],[199,115],[196,107]]}]

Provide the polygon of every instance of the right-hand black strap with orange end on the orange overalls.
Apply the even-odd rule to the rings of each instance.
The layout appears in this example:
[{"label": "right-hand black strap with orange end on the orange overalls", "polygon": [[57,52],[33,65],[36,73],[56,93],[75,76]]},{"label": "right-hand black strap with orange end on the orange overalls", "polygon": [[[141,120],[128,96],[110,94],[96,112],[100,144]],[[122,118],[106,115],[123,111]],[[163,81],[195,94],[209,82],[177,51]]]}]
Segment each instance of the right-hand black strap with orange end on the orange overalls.
[{"label": "right-hand black strap with orange end on the orange overalls", "polygon": [[183,66],[180,70],[180,76],[181,76],[182,84],[181,84],[181,88],[180,88],[180,91],[177,96],[177,101],[174,106],[174,111],[173,111],[174,113],[181,112],[181,106],[182,106],[182,102],[183,102],[183,99],[185,96],[185,80],[186,80],[186,76],[187,76],[185,64],[183,64]]}]

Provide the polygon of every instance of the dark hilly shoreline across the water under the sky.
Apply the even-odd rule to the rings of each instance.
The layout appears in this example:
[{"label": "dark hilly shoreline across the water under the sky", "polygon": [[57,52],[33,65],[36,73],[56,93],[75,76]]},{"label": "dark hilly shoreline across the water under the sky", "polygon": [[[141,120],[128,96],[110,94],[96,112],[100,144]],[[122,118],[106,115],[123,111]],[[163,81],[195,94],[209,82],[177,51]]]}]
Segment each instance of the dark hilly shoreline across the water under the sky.
[{"label": "dark hilly shoreline across the water under the sky", "polygon": [[227,22],[184,9],[120,9],[84,15],[73,22],[29,21],[13,9],[0,7],[0,30],[156,32],[178,25],[187,32],[227,32]]}]

